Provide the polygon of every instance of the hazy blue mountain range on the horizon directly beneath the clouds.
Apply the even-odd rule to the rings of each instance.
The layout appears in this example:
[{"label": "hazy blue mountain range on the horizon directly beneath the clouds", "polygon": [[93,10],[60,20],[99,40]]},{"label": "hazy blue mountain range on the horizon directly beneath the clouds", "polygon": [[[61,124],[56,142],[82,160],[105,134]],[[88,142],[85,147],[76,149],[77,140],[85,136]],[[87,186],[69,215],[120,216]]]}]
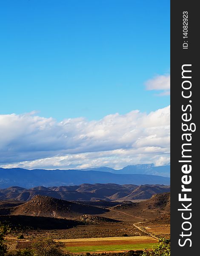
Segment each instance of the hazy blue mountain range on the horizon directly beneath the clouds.
[{"label": "hazy blue mountain range on the horizon directly beneath the clouds", "polygon": [[[155,175],[156,174],[156,175]],[[159,174],[159,175],[158,175]],[[20,186],[69,186],[82,183],[116,184],[170,184],[170,166],[136,165],[126,166],[121,170],[108,167],[84,170],[43,170],[43,169],[3,169],[0,168],[0,188]]]}]

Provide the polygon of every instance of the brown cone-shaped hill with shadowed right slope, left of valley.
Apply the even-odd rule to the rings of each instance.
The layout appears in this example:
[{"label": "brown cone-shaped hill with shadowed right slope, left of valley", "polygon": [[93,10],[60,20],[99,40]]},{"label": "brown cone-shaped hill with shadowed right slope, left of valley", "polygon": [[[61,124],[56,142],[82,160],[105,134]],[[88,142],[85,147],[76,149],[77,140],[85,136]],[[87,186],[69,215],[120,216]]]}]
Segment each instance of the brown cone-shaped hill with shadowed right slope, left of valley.
[{"label": "brown cone-shaped hill with shadowed right slope, left of valley", "polygon": [[76,218],[83,214],[101,214],[108,210],[89,205],[36,195],[30,201],[10,209],[10,215]]}]

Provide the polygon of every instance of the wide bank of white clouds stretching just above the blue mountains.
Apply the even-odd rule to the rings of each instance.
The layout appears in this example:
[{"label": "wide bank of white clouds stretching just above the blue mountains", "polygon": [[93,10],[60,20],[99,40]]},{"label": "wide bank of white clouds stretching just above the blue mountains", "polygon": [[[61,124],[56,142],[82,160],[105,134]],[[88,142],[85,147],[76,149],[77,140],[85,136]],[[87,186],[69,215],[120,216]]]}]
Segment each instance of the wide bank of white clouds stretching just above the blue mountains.
[{"label": "wide bank of white clouds stretching just above the blue mountains", "polygon": [[2,167],[72,169],[169,163],[170,107],[57,122],[28,114],[0,115]]}]

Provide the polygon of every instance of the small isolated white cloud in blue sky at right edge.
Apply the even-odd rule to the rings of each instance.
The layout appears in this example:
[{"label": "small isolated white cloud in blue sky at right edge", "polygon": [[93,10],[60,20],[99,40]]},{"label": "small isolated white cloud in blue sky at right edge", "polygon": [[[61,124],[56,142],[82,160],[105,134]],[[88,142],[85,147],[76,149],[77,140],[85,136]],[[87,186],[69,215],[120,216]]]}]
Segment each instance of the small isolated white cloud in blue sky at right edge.
[{"label": "small isolated white cloud in blue sky at right edge", "polygon": [[155,76],[145,83],[147,90],[162,90],[157,96],[170,95],[170,75]]}]

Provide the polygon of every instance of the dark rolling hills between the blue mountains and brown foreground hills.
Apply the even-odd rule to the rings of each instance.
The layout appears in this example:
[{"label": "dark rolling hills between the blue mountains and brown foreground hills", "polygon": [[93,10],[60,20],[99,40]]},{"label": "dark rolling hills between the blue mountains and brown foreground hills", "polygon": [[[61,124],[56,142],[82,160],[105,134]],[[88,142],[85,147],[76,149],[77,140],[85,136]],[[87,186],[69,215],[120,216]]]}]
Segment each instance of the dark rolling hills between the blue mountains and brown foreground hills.
[{"label": "dark rolling hills between the blue mountains and brown foreground hills", "polygon": [[[94,206],[113,206],[115,200],[130,201],[134,199],[149,199],[152,195],[169,192],[170,186],[165,185],[118,185],[118,184],[81,184],[79,186],[44,187],[38,186],[25,189],[17,186],[0,189],[1,201],[30,201],[37,195],[66,201],[91,201]],[[107,202],[106,202],[107,201]],[[5,204],[3,203],[4,207]],[[1,208],[2,206],[0,206]]]}]

